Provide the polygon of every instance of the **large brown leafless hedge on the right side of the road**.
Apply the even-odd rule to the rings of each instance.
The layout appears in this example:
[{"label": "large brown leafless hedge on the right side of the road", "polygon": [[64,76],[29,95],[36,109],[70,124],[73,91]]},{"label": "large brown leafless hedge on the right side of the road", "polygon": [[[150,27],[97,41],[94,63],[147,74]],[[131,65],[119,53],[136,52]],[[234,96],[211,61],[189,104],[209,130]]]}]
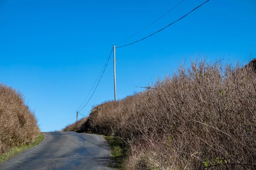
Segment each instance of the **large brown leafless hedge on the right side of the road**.
[{"label": "large brown leafless hedge on the right side of the road", "polygon": [[256,168],[256,74],[202,60],[93,109],[84,130],[121,136],[129,170]]}]

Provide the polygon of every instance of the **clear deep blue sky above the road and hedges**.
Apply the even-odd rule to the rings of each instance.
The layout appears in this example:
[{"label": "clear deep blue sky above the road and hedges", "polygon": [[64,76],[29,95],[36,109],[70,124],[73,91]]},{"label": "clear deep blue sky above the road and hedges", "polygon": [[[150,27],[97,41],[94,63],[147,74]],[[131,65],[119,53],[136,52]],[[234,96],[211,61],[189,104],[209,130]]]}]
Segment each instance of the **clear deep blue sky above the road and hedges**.
[{"label": "clear deep blue sky above the road and hedges", "polygon": [[[0,0],[0,82],[20,90],[42,131],[60,130],[95,82],[113,44],[180,0]],[[172,23],[204,0],[185,0],[124,45]],[[146,40],[116,49],[117,98],[133,94],[181,60],[256,57],[256,1],[210,0]],[[113,58],[81,111],[113,99]],[[81,116],[79,115],[79,119]]]}]

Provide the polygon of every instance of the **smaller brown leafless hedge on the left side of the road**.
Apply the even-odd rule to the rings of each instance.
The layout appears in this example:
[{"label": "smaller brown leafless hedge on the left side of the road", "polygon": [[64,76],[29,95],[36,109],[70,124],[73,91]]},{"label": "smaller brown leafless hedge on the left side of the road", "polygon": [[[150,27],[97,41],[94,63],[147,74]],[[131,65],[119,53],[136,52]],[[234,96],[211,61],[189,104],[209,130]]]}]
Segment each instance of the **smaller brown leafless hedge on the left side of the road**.
[{"label": "smaller brown leafless hedge on the left side of the road", "polygon": [[22,94],[0,83],[0,154],[34,142],[39,134],[35,115]]}]

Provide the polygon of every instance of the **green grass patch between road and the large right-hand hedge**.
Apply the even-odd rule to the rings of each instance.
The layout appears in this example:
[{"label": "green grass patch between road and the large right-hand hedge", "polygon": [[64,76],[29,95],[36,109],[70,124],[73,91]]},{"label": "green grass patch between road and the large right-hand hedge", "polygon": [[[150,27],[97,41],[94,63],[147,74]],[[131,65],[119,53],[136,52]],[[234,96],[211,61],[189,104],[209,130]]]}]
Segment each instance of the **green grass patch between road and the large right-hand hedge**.
[{"label": "green grass patch between road and the large right-hand hedge", "polygon": [[111,147],[111,156],[113,158],[113,162],[108,164],[108,166],[117,168],[118,170],[123,170],[122,163],[127,156],[127,150],[122,144],[122,139],[115,136],[103,136],[103,138]]}]

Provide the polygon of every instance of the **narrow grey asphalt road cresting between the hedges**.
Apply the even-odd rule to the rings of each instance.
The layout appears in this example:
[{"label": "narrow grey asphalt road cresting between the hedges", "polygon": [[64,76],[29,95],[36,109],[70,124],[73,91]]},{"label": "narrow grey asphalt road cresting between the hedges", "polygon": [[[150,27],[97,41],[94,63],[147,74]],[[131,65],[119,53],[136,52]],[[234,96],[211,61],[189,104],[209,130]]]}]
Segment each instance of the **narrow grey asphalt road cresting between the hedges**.
[{"label": "narrow grey asphalt road cresting between the hedges", "polygon": [[0,170],[110,170],[110,148],[102,136],[46,132],[45,139],[3,163]]}]

